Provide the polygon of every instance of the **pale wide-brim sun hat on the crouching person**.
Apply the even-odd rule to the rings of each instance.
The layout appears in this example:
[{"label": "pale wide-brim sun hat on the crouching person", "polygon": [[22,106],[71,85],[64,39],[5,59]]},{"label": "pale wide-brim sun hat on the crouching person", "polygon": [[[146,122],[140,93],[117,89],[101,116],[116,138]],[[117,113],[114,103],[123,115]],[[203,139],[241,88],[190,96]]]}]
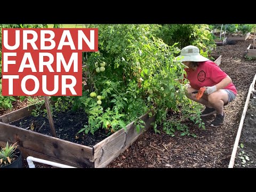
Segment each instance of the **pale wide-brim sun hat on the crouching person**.
[{"label": "pale wide-brim sun hat on the crouching person", "polygon": [[202,62],[202,61],[208,61],[206,57],[203,57],[200,55],[198,47],[194,45],[188,45],[184,47],[180,55],[176,57],[176,59],[180,62],[182,61],[195,61],[195,62]]}]

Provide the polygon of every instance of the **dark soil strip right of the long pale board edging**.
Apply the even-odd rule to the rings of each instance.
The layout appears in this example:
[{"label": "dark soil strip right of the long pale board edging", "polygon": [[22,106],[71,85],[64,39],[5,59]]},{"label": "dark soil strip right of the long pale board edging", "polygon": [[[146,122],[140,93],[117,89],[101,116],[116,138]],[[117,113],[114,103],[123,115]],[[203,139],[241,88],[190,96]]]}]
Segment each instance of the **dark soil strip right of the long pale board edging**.
[{"label": "dark soil strip right of the long pale board edging", "polygon": [[234,167],[256,167],[256,94],[249,101]]}]

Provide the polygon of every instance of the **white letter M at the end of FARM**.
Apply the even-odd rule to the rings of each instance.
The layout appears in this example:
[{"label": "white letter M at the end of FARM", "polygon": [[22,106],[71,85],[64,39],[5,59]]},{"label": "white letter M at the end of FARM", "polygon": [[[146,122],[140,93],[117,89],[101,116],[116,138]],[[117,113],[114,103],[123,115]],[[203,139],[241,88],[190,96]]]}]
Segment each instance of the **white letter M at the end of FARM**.
[{"label": "white letter M at the end of FARM", "polygon": [[61,63],[63,65],[65,71],[69,72],[73,62],[74,62],[74,72],[78,71],[78,53],[72,53],[71,54],[71,57],[70,57],[70,59],[68,61],[68,65],[67,65],[67,63],[66,63],[66,61],[65,61],[65,59],[63,57],[63,54],[62,53],[57,53],[56,62],[57,62],[57,72],[61,71],[61,67],[60,67]]}]

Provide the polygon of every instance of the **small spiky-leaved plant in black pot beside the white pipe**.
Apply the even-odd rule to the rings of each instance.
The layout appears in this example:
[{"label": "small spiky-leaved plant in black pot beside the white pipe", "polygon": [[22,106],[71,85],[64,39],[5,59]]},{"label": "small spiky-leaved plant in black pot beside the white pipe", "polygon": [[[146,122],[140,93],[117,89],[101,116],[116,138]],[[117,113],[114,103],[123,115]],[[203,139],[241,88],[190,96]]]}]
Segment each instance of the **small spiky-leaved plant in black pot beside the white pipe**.
[{"label": "small spiky-leaved plant in black pot beside the white pipe", "polygon": [[14,144],[11,144],[9,146],[9,143],[7,141],[6,146],[0,151],[0,165],[4,166],[4,165],[8,165],[11,164],[14,160],[15,157],[17,155],[15,155],[15,150],[17,149],[18,145],[17,142],[15,142]]}]

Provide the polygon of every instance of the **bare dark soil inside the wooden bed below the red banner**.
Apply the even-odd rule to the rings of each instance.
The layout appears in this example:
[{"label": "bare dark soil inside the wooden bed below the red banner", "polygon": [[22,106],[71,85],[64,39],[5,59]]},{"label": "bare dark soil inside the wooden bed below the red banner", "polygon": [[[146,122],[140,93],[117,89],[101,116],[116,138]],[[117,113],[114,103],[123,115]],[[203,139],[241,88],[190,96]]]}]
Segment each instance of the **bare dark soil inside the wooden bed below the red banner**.
[{"label": "bare dark soil inside the wooden bed below the red banner", "polygon": [[[66,141],[92,147],[96,143],[107,138],[107,135],[102,131],[102,129],[95,132],[94,135],[84,134],[83,132],[79,134],[77,133],[84,127],[84,125],[88,124],[88,118],[83,110],[60,112],[53,116],[53,122],[57,138]],[[47,114],[42,113],[38,117],[31,115],[10,124],[23,129],[34,129],[33,131],[38,133],[52,136]]]}]

